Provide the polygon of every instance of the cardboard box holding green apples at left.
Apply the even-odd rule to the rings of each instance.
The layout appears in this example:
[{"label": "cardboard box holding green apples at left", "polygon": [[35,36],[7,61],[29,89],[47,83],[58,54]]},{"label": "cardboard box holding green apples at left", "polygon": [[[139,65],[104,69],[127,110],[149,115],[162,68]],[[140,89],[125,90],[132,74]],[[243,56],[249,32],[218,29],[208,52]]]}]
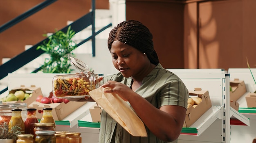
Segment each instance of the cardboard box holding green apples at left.
[{"label": "cardboard box holding green apples at left", "polygon": [[27,106],[29,104],[31,104],[32,102],[36,101],[36,98],[38,97],[38,95],[43,95],[41,88],[40,87],[36,87],[35,85],[31,85],[30,87],[25,87],[24,85],[21,85],[20,87],[16,87],[13,88],[9,91],[10,93],[15,93],[16,91],[22,90],[24,91],[24,93],[32,93],[32,96],[26,100],[23,101],[7,101],[7,102],[3,102],[3,103],[27,103]]}]

